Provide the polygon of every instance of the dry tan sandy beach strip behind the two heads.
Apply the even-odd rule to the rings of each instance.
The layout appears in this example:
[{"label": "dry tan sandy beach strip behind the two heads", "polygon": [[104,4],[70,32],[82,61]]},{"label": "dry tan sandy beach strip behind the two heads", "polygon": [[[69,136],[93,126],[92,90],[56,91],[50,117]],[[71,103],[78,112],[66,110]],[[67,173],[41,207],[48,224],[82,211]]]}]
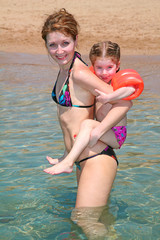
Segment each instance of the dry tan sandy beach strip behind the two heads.
[{"label": "dry tan sandy beach strip behind the two heads", "polygon": [[43,22],[66,8],[79,22],[83,54],[101,40],[119,43],[124,55],[160,54],[159,0],[0,0],[0,5],[0,51],[45,54]]}]

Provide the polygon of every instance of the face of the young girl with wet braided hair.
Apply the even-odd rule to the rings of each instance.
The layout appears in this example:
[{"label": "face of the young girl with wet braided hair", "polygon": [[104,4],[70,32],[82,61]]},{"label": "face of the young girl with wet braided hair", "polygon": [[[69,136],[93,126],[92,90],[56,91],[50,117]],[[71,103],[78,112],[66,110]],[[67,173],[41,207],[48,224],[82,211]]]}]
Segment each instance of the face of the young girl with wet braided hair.
[{"label": "face of the young girl with wet braided hair", "polygon": [[120,63],[116,64],[111,58],[104,57],[97,58],[93,67],[97,77],[110,84],[113,75],[119,69],[119,65]]}]

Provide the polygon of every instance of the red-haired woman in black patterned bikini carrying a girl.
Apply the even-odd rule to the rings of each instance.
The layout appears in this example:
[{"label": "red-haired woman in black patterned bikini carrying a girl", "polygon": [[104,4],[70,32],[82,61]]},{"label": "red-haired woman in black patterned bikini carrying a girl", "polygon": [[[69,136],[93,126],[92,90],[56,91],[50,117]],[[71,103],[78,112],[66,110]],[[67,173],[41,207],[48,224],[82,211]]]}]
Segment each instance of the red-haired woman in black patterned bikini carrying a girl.
[{"label": "red-haired woman in black patterned bikini carrying a girl", "polygon": [[[75,141],[81,123],[94,118],[95,89],[111,93],[112,87],[97,78],[75,52],[78,40],[78,23],[65,9],[50,15],[43,26],[42,38],[50,56],[59,65],[59,73],[52,98],[57,103],[57,113],[68,153]],[[112,103],[106,131],[116,125],[131,107],[129,101]],[[106,144],[98,141],[87,147],[78,161],[78,191],[76,208],[105,206],[117,171],[117,160],[112,149],[105,152]],[[96,155],[95,157],[92,157]]]}]

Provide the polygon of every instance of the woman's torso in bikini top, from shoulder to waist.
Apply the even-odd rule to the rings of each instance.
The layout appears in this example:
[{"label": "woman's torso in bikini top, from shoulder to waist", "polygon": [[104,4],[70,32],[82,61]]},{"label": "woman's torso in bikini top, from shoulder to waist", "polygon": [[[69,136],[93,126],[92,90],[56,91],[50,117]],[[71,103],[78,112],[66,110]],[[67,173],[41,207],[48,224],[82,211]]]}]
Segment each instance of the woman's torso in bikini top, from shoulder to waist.
[{"label": "woman's torso in bikini top, from shoulder to waist", "polygon": [[59,73],[52,93],[67,151],[72,148],[74,135],[78,134],[82,121],[93,119],[94,115],[94,96],[74,80],[74,72],[87,66],[79,58],[75,58],[71,65],[65,77]]}]

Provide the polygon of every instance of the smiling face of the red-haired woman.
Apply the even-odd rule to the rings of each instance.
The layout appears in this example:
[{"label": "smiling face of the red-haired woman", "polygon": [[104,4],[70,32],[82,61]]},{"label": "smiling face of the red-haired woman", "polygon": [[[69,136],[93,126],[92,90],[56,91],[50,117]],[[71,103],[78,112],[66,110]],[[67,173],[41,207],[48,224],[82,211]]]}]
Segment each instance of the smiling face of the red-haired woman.
[{"label": "smiling face of the red-haired woman", "polygon": [[51,57],[59,64],[66,65],[74,55],[77,41],[61,32],[52,32],[47,35],[47,49]]}]

